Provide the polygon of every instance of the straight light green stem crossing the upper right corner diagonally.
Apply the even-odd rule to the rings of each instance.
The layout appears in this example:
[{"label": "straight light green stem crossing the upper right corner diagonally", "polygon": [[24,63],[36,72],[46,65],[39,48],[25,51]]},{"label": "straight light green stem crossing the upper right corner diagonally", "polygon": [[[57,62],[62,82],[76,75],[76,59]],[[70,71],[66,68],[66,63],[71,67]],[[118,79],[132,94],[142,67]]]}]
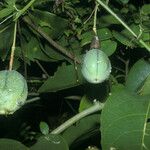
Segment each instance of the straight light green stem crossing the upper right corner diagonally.
[{"label": "straight light green stem crossing the upper right corner diagonally", "polygon": [[138,41],[141,43],[149,52],[150,46],[148,46],[142,39],[138,38],[138,35],[121,19],[119,18],[106,4],[104,4],[101,0],[97,0],[97,2],[105,8],[112,16],[114,16]]}]

